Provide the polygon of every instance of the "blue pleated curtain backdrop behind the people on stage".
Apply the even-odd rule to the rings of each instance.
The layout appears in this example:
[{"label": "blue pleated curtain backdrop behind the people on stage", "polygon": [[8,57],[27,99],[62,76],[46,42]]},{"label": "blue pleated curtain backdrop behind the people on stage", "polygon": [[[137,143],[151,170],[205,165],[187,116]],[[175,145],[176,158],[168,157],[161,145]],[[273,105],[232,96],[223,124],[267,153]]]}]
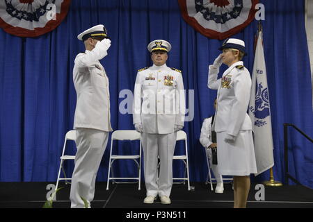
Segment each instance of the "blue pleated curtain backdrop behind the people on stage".
[{"label": "blue pleated curtain backdrop behind the people on stage", "polygon": [[[310,137],[313,135],[304,1],[260,2],[266,10],[262,24],[275,146],[273,169],[275,180],[283,181],[282,124],[294,123]],[[184,128],[188,134],[191,181],[204,181],[207,165],[199,142],[200,128],[203,119],[214,114],[216,96],[216,91],[207,88],[207,71],[223,41],[211,40],[188,26],[181,17],[177,0],[73,0],[64,22],[51,33],[21,38],[0,30],[0,180],[56,180],[63,139],[67,130],[72,129],[74,119],[74,58],[84,51],[77,35],[96,24],[104,24],[112,40],[109,56],[101,62],[110,79],[114,130],[133,129],[132,115],[119,112],[119,106],[131,110],[131,104],[123,103],[125,99],[131,101],[131,95],[123,93],[133,91],[137,69],[152,64],[147,44],[156,39],[172,44],[167,64],[182,69],[185,89],[194,90],[194,98],[189,96],[186,101],[191,111],[188,103],[194,99],[194,118]],[[248,56],[243,61],[250,73],[256,31],[257,21],[254,21],[233,36],[246,42]],[[221,72],[225,69],[223,65]],[[294,130],[289,130],[289,135],[291,174],[313,188],[312,144]],[[99,181],[106,180],[110,144],[99,169]],[[134,147],[129,143],[118,146]],[[68,150],[74,153],[73,143]],[[67,167],[70,173],[73,164]],[[131,162],[119,162],[116,167],[117,174],[136,175]],[[181,171],[182,166],[175,169],[175,173]],[[268,178],[268,171],[252,177],[256,181]]]}]

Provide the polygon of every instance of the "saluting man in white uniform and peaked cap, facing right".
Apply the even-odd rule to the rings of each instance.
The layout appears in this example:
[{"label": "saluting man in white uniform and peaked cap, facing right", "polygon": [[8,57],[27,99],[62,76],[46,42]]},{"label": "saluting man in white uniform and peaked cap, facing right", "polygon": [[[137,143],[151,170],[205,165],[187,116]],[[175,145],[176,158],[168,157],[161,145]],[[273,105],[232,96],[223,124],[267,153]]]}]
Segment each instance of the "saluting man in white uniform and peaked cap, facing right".
[{"label": "saluting man in white uniform and peaked cap, facing right", "polygon": [[71,207],[84,207],[82,198],[89,204],[95,194],[95,179],[109,132],[110,96],[109,78],[99,60],[111,46],[103,25],[93,26],[79,34],[86,47],[74,61],[73,80],[77,92],[74,129],[77,130],[77,154],[70,191]]}]

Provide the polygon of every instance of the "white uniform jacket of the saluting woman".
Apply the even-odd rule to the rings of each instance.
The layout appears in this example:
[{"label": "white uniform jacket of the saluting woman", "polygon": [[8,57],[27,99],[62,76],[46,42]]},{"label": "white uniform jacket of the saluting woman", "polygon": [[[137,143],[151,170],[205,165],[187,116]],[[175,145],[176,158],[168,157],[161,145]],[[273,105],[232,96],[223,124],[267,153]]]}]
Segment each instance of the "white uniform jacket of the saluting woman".
[{"label": "white uniform jacket of the saluting woman", "polygon": [[209,67],[208,87],[218,89],[217,107],[214,118],[216,133],[226,131],[236,137],[239,130],[252,130],[247,114],[251,77],[243,62],[235,62],[217,79],[218,69]]}]

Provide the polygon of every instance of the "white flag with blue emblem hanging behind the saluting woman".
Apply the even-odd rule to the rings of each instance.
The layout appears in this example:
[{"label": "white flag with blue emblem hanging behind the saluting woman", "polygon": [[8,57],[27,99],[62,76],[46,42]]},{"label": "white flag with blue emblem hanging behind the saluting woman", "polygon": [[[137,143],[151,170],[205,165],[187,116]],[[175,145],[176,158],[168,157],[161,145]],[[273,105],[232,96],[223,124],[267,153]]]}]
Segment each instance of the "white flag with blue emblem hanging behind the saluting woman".
[{"label": "white flag with blue emblem hanging behind the saluting woman", "polygon": [[257,173],[255,176],[257,176],[271,169],[274,165],[271,110],[262,31],[259,31],[257,37],[248,113],[252,121],[252,130],[254,133],[255,158],[257,161]]}]

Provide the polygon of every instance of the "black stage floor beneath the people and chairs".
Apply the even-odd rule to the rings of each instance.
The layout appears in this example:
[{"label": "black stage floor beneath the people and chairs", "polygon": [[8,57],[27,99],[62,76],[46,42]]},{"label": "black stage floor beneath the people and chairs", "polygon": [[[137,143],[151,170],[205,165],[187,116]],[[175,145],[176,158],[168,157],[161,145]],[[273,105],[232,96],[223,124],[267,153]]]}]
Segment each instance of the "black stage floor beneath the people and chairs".
[{"label": "black stage floor beneath the people and chairs", "polygon": [[[54,183],[54,182],[51,182]],[[0,182],[0,208],[41,208],[44,205],[50,182]],[[313,189],[300,185],[282,187],[264,187],[264,195],[255,189],[257,184],[251,184],[248,197],[248,208],[313,208]],[[174,184],[172,187],[172,204],[162,205],[160,200],[153,204],[144,204],[145,185],[113,184],[106,190],[106,182],[97,182],[93,208],[127,208],[127,209],[207,209],[232,208],[233,191],[231,184],[225,184],[224,194],[215,194],[204,182],[191,182],[194,187],[188,191],[187,185]],[[56,195],[54,208],[70,207],[70,185],[61,182],[63,187]],[[215,187],[215,185],[214,185]],[[47,189],[48,188],[48,189]],[[262,200],[257,200],[262,197]]]}]

